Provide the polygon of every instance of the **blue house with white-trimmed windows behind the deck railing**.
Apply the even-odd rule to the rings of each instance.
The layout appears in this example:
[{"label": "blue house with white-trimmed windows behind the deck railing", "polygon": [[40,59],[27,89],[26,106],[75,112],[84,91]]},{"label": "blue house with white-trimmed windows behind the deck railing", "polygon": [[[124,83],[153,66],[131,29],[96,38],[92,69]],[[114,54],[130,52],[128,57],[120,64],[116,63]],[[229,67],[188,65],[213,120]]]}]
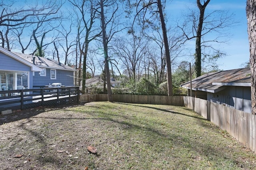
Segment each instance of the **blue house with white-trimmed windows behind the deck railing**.
[{"label": "blue house with white-trimmed windows behind the deck railing", "polygon": [[74,86],[74,68],[57,61],[0,47],[0,90],[44,87],[60,82]]}]

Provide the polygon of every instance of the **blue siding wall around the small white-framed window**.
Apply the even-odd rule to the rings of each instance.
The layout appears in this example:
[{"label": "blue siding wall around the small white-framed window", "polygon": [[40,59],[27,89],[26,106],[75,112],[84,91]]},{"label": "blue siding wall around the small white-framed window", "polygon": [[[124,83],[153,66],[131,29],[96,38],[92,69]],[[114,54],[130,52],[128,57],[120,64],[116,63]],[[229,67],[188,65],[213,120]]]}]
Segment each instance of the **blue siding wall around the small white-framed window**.
[{"label": "blue siding wall around the small white-framed window", "polygon": [[56,79],[51,79],[50,68],[46,68],[46,76],[40,76],[35,72],[34,86],[45,86],[52,83],[62,83],[64,86],[74,86],[74,73],[68,70],[56,70]]}]

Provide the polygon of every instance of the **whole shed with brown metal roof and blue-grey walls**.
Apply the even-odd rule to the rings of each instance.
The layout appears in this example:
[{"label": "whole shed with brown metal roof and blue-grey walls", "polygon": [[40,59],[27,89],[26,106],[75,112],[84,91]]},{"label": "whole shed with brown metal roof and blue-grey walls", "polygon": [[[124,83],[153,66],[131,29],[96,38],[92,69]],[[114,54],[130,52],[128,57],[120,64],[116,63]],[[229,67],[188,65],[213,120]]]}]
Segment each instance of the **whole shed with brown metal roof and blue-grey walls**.
[{"label": "whole shed with brown metal roof and blue-grey walls", "polygon": [[[192,96],[251,113],[250,76],[250,68],[204,74],[192,80]],[[190,82],[180,86],[190,95]]]}]

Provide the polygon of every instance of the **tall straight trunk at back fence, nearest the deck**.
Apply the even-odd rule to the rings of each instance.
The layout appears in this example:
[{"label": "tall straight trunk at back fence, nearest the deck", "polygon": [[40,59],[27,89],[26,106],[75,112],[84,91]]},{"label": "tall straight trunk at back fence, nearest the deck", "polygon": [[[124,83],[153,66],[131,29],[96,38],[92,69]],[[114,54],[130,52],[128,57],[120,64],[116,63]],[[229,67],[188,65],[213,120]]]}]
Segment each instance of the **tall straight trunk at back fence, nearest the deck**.
[{"label": "tall straight trunk at back fence, nearest the deck", "polygon": [[100,9],[101,9],[100,16],[101,16],[101,26],[102,26],[102,39],[103,39],[103,47],[104,47],[105,68],[106,68],[107,89],[108,89],[108,102],[113,102],[111,84],[110,84],[110,72],[109,72],[109,65],[108,65],[108,46],[106,41],[106,28],[105,28],[103,0],[100,0]]}]

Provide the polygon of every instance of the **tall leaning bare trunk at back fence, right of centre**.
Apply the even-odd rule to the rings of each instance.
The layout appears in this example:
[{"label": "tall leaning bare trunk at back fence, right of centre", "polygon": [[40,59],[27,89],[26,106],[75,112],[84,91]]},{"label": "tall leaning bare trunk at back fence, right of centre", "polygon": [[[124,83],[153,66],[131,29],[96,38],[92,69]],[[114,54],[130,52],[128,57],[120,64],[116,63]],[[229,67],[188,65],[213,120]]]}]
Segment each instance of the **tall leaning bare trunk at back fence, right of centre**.
[{"label": "tall leaning bare trunk at back fence, right of centre", "polygon": [[165,55],[166,55],[166,66],[167,66],[167,89],[168,89],[168,96],[173,96],[172,94],[172,68],[171,68],[171,59],[170,59],[170,51],[169,51],[169,44],[168,44],[168,38],[166,33],[166,26],[164,22],[164,15],[162,11],[162,4],[161,0],[157,0],[158,4],[158,10],[160,15],[160,21],[163,31],[163,37],[164,37],[164,48],[165,48]]}]

